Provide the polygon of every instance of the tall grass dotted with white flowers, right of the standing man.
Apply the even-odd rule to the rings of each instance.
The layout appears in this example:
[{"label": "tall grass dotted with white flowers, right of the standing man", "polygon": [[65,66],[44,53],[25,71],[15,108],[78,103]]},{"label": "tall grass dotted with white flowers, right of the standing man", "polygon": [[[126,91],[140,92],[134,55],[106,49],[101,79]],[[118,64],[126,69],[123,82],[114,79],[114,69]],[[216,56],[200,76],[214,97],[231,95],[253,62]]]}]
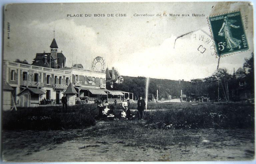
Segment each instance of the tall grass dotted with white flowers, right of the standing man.
[{"label": "tall grass dotted with white flowers, right of the standing man", "polygon": [[156,111],[146,113],[147,127],[254,128],[254,105],[173,103],[158,106]]}]

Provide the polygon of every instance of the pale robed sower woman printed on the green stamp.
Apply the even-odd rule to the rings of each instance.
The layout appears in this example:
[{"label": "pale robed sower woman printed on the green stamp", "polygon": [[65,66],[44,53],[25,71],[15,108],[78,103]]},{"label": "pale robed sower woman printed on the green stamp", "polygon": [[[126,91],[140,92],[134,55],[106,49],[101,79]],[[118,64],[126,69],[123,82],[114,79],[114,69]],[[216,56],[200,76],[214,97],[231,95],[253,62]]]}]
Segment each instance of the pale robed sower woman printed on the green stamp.
[{"label": "pale robed sower woman printed on the green stamp", "polygon": [[233,51],[233,48],[238,47],[238,49],[241,48],[240,43],[242,42],[241,40],[235,39],[232,37],[231,34],[231,27],[237,29],[240,28],[240,26],[235,26],[233,23],[235,23],[235,20],[228,20],[228,17],[224,17],[224,22],[222,24],[222,27],[219,31],[219,36],[224,36],[225,40],[227,42],[227,48],[230,48],[229,51]]}]

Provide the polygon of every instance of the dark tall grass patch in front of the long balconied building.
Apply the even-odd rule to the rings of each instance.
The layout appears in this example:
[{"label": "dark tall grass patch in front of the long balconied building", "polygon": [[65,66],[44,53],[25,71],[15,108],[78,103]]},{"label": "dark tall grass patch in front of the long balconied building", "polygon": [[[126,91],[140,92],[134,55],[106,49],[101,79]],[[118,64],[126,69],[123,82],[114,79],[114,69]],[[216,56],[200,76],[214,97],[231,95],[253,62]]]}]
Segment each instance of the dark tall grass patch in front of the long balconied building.
[{"label": "dark tall grass patch in front of the long balconied building", "polygon": [[95,104],[69,106],[67,112],[62,106],[39,106],[4,111],[3,129],[57,130],[74,129],[95,124],[98,110]]}]

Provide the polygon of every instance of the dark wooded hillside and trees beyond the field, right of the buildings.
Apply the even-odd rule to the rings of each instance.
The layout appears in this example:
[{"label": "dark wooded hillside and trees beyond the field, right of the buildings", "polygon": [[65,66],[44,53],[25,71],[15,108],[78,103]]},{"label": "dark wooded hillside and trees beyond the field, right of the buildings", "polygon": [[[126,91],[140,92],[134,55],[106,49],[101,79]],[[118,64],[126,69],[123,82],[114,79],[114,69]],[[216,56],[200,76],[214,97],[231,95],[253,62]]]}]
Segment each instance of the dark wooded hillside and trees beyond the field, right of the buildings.
[{"label": "dark wooded hillside and trees beyond the field, right of the buildings", "polygon": [[[218,100],[218,97],[222,100],[235,100],[238,98],[237,89],[243,85],[243,89],[254,91],[254,57],[253,53],[250,58],[245,58],[244,67],[246,68],[246,75],[243,78],[236,78],[227,72],[226,68],[219,68],[210,77],[205,79],[192,79],[191,81],[178,81],[168,79],[149,79],[148,94],[154,94],[156,96],[157,89],[160,92],[162,98],[167,98],[168,95],[179,98],[182,90],[182,94],[208,94],[211,100]],[[124,78],[123,83],[114,84],[113,88],[107,85],[107,89],[121,90],[126,92],[132,92],[135,98],[138,99],[139,95],[145,97],[146,78],[145,77],[130,77],[122,76]],[[161,86],[159,88],[159,85]],[[254,94],[254,93],[252,93]],[[219,95],[219,96],[218,96]]]}]

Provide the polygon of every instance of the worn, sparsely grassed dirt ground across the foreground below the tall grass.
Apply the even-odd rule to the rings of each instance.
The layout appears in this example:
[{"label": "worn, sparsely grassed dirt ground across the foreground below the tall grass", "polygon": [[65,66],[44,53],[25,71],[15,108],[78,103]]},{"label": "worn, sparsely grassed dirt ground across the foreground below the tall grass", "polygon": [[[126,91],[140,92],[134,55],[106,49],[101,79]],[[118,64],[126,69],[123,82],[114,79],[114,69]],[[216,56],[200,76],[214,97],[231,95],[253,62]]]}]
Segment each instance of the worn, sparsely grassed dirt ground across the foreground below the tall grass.
[{"label": "worn, sparsely grassed dirt ground across the foreground below the tall grass", "polygon": [[[120,123],[125,126],[132,122]],[[138,128],[134,129],[134,133],[107,133],[110,126],[113,122],[100,121],[95,126],[78,130],[4,131],[3,157],[6,161],[20,162],[254,158],[254,135],[248,129],[152,129],[140,133]],[[140,135],[135,136],[137,133]]]}]

